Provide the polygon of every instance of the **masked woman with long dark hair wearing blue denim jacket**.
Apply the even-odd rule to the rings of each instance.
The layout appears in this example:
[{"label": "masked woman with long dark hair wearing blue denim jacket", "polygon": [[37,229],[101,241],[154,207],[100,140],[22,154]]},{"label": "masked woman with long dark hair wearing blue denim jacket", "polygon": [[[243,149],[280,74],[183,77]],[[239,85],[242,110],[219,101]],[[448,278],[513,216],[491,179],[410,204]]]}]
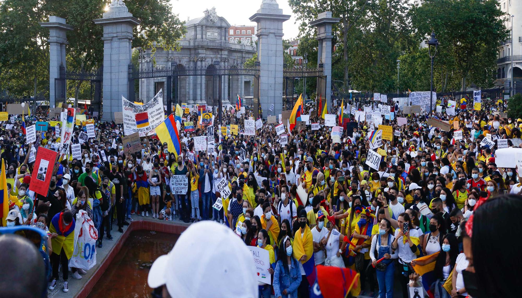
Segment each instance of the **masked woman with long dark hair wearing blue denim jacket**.
[{"label": "masked woman with long dark hair wearing blue denim jacket", "polygon": [[291,239],[286,236],[279,244],[278,261],[274,270],[276,298],[297,297],[301,278],[299,262],[293,257]]}]

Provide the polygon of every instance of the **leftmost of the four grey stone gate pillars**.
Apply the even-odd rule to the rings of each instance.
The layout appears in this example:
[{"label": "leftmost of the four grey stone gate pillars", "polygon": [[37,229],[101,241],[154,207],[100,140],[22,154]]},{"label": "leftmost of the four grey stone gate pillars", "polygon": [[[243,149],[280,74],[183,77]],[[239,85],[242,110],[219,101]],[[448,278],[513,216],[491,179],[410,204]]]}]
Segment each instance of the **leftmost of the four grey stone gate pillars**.
[{"label": "leftmost of the four grey stone gate pillars", "polygon": [[[65,61],[65,46],[67,45],[67,31],[73,26],[66,24],[64,18],[49,16],[49,22],[42,22],[40,26],[49,28],[49,101],[50,107],[55,107],[55,79],[60,79],[60,66],[67,67]],[[64,83],[65,84],[65,83]]]}]

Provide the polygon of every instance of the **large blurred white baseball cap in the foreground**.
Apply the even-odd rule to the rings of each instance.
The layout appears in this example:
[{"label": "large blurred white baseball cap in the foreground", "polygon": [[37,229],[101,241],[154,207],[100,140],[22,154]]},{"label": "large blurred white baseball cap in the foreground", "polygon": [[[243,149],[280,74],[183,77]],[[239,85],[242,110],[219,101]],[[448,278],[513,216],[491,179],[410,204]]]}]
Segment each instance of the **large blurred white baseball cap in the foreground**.
[{"label": "large blurred white baseball cap in the foreground", "polygon": [[[191,273],[179,268],[191,268]],[[241,287],[235,286],[238,276]],[[252,253],[230,228],[215,221],[188,227],[172,251],[152,264],[147,283],[153,289],[165,284],[173,297],[258,296]]]}]

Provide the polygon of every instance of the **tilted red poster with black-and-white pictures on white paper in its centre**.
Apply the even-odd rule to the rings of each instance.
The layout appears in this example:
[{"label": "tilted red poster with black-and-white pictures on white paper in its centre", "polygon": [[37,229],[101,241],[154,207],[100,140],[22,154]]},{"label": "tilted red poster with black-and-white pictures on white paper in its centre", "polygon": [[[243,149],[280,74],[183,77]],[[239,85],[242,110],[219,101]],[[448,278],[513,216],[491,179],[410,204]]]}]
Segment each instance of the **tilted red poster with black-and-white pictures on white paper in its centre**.
[{"label": "tilted red poster with black-and-white pictures on white paper in its centre", "polygon": [[49,184],[51,176],[53,176],[54,164],[58,153],[44,147],[38,148],[36,160],[34,160],[33,173],[31,175],[31,183],[29,190],[46,196],[49,192]]}]

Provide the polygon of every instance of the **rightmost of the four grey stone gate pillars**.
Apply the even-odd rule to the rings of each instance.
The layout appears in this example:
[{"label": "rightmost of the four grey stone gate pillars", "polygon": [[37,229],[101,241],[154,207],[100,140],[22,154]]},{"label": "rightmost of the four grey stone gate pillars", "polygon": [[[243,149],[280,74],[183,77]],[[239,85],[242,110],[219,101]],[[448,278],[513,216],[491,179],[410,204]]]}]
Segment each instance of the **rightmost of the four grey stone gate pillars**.
[{"label": "rightmost of the four grey stone gate pillars", "polygon": [[332,18],[331,11],[324,11],[317,15],[317,20],[311,22],[317,28],[317,40],[319,41],[317,64],[323,62],[323,76],[326,77],[325,102],[328,111],[331,111],[331,26],[339,22],[339,18]]}]

